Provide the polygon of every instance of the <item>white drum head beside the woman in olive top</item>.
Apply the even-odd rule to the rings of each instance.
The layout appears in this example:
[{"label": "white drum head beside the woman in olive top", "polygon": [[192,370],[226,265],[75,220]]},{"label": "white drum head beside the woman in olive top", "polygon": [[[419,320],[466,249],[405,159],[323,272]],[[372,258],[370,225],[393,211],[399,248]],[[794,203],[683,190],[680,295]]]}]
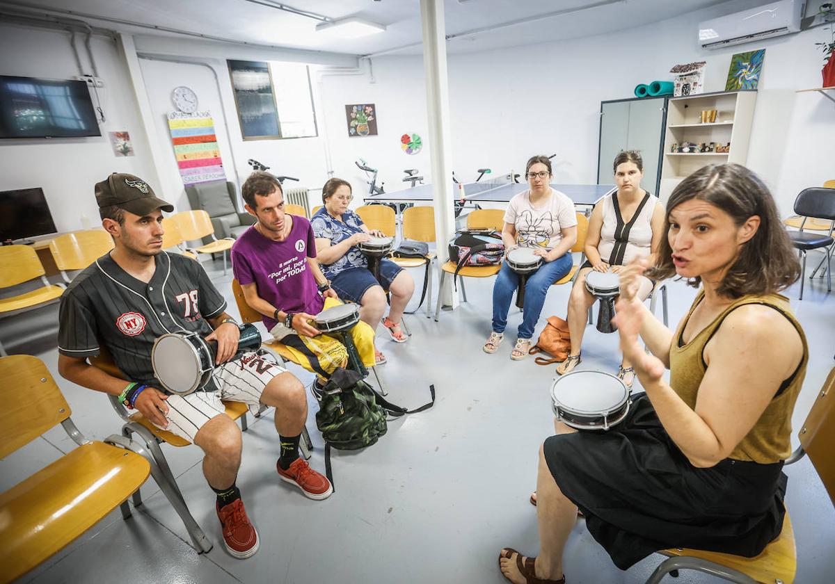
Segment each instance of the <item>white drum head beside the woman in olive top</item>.
[{"label": "white drum head beside the woman in olive top", "polygon": [[603,415],[629,399],[629,390],[615,375],[603,371],[572,371],[551,385],[554,405],[576,415]]}]

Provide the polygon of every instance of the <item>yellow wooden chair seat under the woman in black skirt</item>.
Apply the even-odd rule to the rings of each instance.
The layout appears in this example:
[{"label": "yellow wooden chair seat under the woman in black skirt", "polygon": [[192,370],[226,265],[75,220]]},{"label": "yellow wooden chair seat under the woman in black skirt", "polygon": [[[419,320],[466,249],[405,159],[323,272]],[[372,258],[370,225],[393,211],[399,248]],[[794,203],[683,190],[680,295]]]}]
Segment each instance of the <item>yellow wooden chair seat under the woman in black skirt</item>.
[{"label": "yellow wooden chair seat under the woman in black skirt", "polygon": [[772,584],[774,581],[782,581],[783,584],[792,584],[795,572],[797,571],[797,551],[794,545],[794,530],[792,521],[786,513],[783,519],[783,528],[777,539],[772,541],[759,556],[744,557],[732,554],[723,554],[718,551],[701,551],[687,548],[660,551],[665,556],[688,556],[698,557],[702,560],[713,561],[722,566],[741,571],[751,576],[758,582]]}]

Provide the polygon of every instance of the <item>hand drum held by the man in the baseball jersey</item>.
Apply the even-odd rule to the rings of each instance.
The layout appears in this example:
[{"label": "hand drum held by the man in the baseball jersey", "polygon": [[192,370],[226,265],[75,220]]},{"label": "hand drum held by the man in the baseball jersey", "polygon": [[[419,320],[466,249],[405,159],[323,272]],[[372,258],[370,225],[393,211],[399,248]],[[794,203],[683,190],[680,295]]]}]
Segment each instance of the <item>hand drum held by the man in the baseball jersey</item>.
[{"label": "hand drum held by the man in the baseball jersey", "polygon": [[[261,333],[255,325],[240,325],[235,359],[240,353],[261,346]],[[151,349],[154,377],[172,394],[187,395],[203,389],[215,370],[217,341],[205,340],[197,333],[176,332],[160,335]]]}]

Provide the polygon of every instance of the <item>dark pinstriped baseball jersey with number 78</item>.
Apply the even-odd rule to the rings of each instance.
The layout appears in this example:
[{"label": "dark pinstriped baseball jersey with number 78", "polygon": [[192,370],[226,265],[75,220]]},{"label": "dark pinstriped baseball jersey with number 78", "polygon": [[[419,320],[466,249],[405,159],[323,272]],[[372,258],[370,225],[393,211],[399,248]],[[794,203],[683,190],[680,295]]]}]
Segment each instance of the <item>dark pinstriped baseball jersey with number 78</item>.
[{"label": "dark pinstriped baseball jersey with number 78", "polygon": [[58,351],[83,359],[99,355],[101,343],[130,380],[164,390],[151,365],[154,340],[178,331],[210,335],[206,319],[223,314],[226,300],[194,259],[162,252],[154,261],[147,284],[109,254],[78,274],[61,296]]}]

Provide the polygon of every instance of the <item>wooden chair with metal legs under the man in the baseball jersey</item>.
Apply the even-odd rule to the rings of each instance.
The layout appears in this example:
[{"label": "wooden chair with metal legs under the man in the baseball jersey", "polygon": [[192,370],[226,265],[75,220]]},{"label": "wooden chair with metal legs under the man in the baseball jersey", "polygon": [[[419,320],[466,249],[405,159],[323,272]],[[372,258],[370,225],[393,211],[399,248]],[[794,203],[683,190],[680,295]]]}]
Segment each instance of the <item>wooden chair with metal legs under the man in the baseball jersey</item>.
[{"label": "wooden chair with metal legs under the man in the baseball jersey", "polygon": [[[113,358],[110,356],[109,352],[104,349],[104,347],[101,348],[98,356],[90,357],[89,361],[92,365],[98,367],[100,370],[103,370],[105,373],[109,373],[109,375],[125,380],[125,383],[127,384],[127,376],[119,370],[114,363]],[[136,434],[144,441],[145,447],[149,451],[150,460],[153,461],[154,466],[159,469],[159,471],[154,472],[154,481],[156,481],[159,489],[163,491],[164,495],[168,498],[171,506],[173,506],[177,512],[177,515],[180,516],[180,519],[185,525],[186,531],[189,532],[191,541],[195,544],[195,549],[198,553],[210,551],[213,544],[197,524],[194,516],[191,515],[191,511],[189,511],[189,507],[185,503],[185,497],[183,497],[183,494],[180,492],[180,487],[177,486],[177,481],[174,474],[171,472],[168,461],[166,460],[162,449],[159,448],[159,445],[162,443],[180,447],[189,446],[191,442],[179,435],[173,434],[168,430],[160,430],[147,418],[145,418],[144,415],[140,414],[139,411],[134,411],[133,414],[129,414],[128,410],[125,410],[124,406],[119,403],[117,396],[108,395],[108,398],[110,405],[113,406],[116,414],[124,421],[122,434],[127,438]],[[226,415],[228,415],[232,420],[240,420],[241,430],[247,430],[248,425],[246,423],[246,412],[249,410],[249,407],[246,404],[236,401],[225,401],[223,402],[223,405],[226,407]],[[265,408],[261,408],[261,411],[264,409]],[[261,415],[261,412],[259,412],[258,415]],[[310,458],[309,455],[306,455],[306,457]],[[134,493],[134,506],[139,505],[142,505],[142,498],[139,491],[136,491]]]}]

